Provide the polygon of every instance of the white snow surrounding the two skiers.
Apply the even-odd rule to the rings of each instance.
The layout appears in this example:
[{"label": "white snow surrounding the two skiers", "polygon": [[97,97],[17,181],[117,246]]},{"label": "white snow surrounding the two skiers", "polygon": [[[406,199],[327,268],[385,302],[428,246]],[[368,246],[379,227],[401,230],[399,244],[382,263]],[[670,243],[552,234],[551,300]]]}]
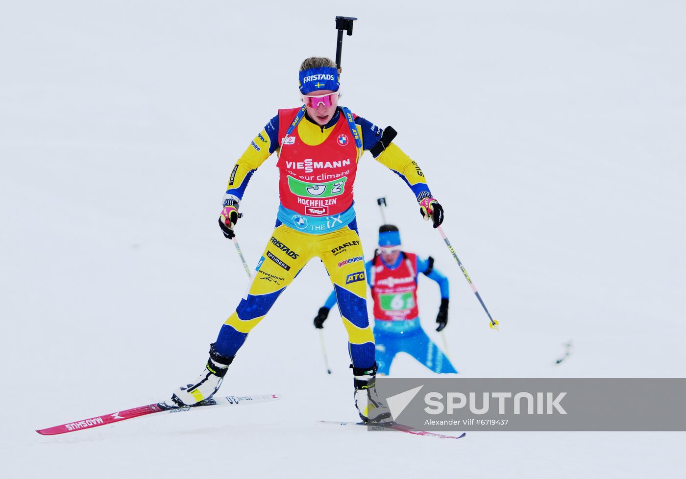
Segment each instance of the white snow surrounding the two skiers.
[{"label": "white snow surrounding the two skiers", "polygon": [[[345,333],[311,319],[316,260],[250,335],[222,393],[274,404],[34,429],[155,402],[196,376],[246,277],[217,212],[235,159],[296,71],[344,37],[342,103],[425,171],[493,332],[406,186],[365,156],[405,247],[451,280],[466,378],[683,377],[686,7],[677,1],[13,1],[0,14],[3,477],[676,478],[683,433],[469,432],[447,441],[322,426],[355,419]],[[237,232],[254,264],[277,205],[270,159]],[[433,332],[438,288],[421,281]],[[575,350],[559,366],[563,343]],[[407,357],[395,376],[429,376]]]}]

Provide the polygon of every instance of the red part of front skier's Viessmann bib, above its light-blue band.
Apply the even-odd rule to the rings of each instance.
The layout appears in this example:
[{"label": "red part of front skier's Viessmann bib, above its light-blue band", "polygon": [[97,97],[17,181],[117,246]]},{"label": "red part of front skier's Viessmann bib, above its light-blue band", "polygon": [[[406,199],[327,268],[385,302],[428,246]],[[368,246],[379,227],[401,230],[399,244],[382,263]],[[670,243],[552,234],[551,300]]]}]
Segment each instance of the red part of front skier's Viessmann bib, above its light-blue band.
[{"label": "red part of front skier's Viessmann bib, above its light-blue band", "polygon": [[[286,136],[296,112],[298,109],[279,110],[280,138]],[[285,208],[303,217],[322,217],[338,215],[352,206],[358,151],[348,134],[350,127],[343,114],[320,145],[304,143],[297,127],[291,132],[293,143],[281,145],[276,163],[279,196]]]}]

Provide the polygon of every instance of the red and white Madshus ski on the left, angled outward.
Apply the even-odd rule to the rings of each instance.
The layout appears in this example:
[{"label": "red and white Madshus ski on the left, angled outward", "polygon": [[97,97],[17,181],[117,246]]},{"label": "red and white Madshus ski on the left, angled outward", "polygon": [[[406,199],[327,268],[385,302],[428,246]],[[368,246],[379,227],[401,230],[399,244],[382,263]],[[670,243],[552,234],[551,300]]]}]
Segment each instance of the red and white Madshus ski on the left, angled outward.
[{"label": "red and white Madshus ski on the left, angled outward", "polygon": [[147,404],[146,406],[139,406],[126,410],[117,411],[117,413],[106,414],[103,416],[91,417],[89,419],[82,419],[81,421],[69,422],[54,426],[53,428],[37,429],[38,434],[45,436],[52,436],[54,434],[64,434],[64,432],[73,432],[82,429],[97,428],[98,426],[105,426],[106,424],[114,424],[126,419],[134,419],[136,417],[147,416],[151,414],[161,413],[187,413],[191,410],[204,409],[212,406],[240,406],[242,404],[256,404],[258,402],[272,402],[280,400],[280,394],[259,394],[252,396],[222,396],[213,397],[211,400],[199,402],[193,406],[169,406],[165,402],[156,402],[154,404]]}]

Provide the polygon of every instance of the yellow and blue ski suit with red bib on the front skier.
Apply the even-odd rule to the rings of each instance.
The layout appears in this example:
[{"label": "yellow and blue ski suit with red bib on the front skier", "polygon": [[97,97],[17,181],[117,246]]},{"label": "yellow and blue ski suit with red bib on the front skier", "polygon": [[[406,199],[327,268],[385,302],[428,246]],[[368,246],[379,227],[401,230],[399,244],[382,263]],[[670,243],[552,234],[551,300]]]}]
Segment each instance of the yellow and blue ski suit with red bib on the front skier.
[{"label": "yellow and blue ski suit with red bib on the front skier", "polygon": [[215,343],[217,352],[235,356],[286,286],[311,258],[318,257],[333,283],[353,366],[374,365],[364,254],[351,194],[357,162],[371,150],[378,162],[405,181],[417,201],[431,197],[418,164],[382,138],[381,128],[340,106],[324,126],[309,119],[305,108],[279,110],[255,136],[231,171],[225,202],[226,198],[240,201],[252,174],[275,152],[281,201],[257,273],[224,322]]}]

